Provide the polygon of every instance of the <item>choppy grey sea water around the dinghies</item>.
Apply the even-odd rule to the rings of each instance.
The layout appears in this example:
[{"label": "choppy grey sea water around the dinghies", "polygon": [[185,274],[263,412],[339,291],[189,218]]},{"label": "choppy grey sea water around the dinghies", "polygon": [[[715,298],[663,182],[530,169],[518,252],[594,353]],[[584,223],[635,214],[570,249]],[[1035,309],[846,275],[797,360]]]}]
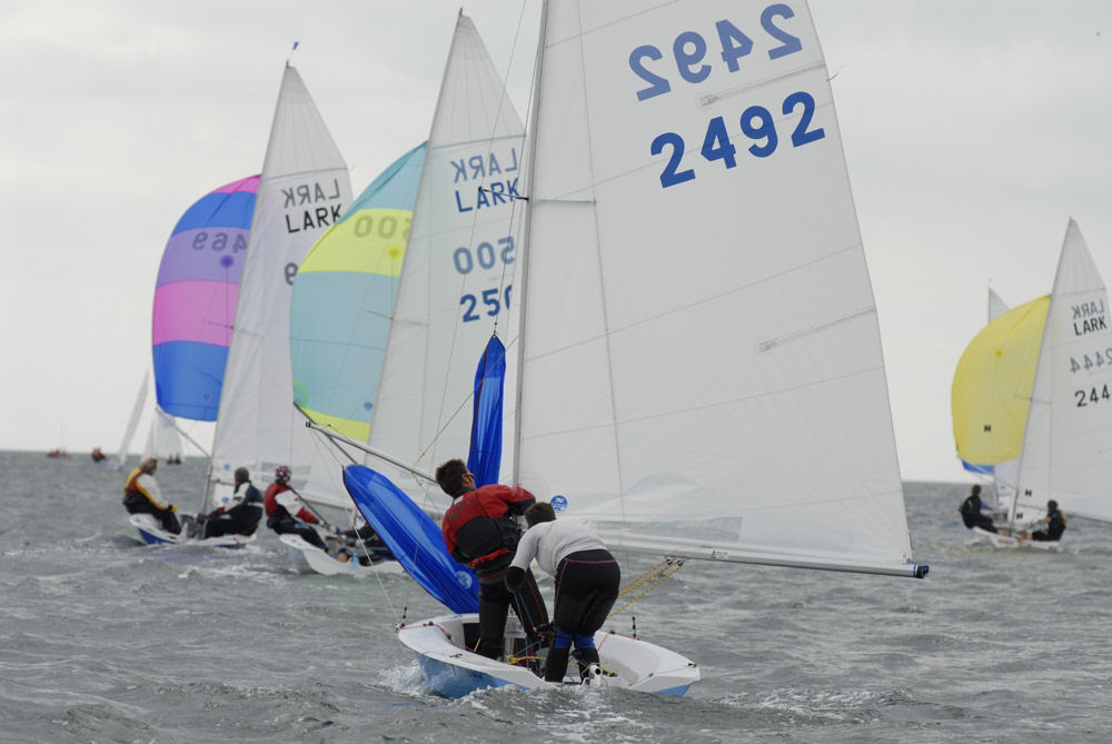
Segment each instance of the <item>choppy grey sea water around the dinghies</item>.
[{"label": "choppy grey sea water around the dinghies", "polygon": [[[88,456],[0,453],[0,473],[3,742],[1112,741],[1112,525],[993,550],[961,526],[967,485],[905,484],[925,581],[687,563],[631,608],[699,664],[684,697],[446,700],[393,633],[443,613],[410,579],[300,574],[269,533],[140,545],[125,474]],[[202,474],[158,479],[185,508]]]}]

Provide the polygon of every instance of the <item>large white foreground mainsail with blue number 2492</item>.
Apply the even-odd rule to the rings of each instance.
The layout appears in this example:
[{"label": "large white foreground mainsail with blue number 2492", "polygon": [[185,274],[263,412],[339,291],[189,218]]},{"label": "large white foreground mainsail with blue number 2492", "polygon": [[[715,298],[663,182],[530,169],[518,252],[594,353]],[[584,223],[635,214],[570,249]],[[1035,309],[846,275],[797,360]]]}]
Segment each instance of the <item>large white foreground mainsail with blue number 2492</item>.
[{"label": "large white foreground mainsail with blue number 2492", "polygon": [[615,547],[914,575],[806,4],[557,1],[542,33],[518,482]]}]

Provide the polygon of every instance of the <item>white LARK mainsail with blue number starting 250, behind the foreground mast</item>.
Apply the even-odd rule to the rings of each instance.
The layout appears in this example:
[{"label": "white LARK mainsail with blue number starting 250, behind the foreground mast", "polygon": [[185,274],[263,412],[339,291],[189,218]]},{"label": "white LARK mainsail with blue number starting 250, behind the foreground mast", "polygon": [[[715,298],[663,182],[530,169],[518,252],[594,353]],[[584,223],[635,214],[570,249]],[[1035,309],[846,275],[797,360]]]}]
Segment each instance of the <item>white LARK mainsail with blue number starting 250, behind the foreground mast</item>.
[{"label": "white LARK mainsail with blue number starting 250, behind the foreground mast", "polygon": [[[518,247],[510,221],[522,143],[520,119],[475,26],[460,14],[429,132],[370,433],[373,447],[413,466],[435,469],[443,460],[466,458],[475,364],[492,329],[503,338],[516,334]],[[510,384],[506,397],[512,396]],[[424,498],[405,472],[384,473]],[[439,499],[434,507],[443,507],[446,497],[433,495]]]}]

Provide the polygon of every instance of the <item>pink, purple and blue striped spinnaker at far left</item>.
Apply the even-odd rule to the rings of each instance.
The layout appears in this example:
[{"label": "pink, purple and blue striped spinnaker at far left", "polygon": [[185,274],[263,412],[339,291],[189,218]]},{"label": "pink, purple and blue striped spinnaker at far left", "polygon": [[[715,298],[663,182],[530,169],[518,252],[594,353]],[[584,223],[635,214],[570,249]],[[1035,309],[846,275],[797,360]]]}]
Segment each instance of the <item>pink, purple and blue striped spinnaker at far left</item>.
[{"label": "pink, purple and blue striped spinnaker at far left", "polygon": [[216,420],[259,177],[198,199],[170,234],[155,288],[155,390],[172,416]]}]

